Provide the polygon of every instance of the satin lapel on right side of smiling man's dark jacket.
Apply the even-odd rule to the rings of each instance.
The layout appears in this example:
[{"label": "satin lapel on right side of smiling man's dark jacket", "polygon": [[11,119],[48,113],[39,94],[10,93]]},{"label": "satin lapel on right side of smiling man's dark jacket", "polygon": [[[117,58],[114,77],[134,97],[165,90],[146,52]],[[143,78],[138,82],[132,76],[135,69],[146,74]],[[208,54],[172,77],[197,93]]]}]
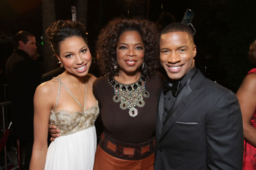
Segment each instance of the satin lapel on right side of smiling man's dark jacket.
[{"label": "satin lapel on right side of smiling man's dark jacket", "polygon": [[164,134],[173,126],[173,124],[182,116],[184,111],[190,106],[191,103],[198,97],[205,88],[199,88],[200,83],[204,76],[202,73],[196,74],[195,78],[187,84],[177,96],[175,103],[170,110],[170,114],[167,115],[166,120],[161,131],[159,140],[163,138]]}]

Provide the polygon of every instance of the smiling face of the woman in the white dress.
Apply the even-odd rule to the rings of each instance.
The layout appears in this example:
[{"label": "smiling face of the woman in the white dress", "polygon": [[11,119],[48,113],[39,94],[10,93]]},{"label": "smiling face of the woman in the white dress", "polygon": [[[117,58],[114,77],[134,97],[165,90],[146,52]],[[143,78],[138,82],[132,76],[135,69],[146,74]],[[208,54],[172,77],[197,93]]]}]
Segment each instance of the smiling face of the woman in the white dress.
[{"label": "smiling face of the woman in the white dress", "polygon": [[75,76],[85,76],[92,64],[92,56],[88,45],[79,36],[66,38],[60,43],[58,59],[68,73]]}]

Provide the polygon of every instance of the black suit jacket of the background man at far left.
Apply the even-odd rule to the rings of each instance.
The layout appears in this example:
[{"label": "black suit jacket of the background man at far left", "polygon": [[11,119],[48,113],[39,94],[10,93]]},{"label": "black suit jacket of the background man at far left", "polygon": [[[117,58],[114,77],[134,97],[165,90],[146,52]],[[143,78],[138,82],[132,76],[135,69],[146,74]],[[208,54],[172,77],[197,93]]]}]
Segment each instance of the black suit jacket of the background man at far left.
[{"label": "black suit jacket of the background man at far left", "polygon": [[40,64],[23,50],[15,50],[6,61],[13,127],[20,141],[33,140],[33,97],[41,76]]}]

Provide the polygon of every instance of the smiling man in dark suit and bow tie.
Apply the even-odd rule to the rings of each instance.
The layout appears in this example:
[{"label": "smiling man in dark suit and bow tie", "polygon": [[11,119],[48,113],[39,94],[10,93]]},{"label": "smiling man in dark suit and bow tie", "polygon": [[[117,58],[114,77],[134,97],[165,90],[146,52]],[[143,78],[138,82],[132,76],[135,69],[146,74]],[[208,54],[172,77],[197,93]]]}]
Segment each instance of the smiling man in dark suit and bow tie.
[{"label": "smiling man in dark suit and bow tie", "polygon": [[160,34],[168,80],[159,94],[154,169],[242,169],[243,125],[237,97],[195,68],[188,25]]}]

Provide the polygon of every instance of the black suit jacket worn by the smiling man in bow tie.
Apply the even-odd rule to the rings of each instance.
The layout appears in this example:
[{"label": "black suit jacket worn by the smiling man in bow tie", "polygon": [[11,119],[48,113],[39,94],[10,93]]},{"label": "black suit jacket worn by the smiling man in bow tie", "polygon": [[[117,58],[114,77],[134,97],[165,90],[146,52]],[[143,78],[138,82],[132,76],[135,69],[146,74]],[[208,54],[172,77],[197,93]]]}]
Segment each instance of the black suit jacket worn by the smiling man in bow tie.
[{"label": "black suit jacket worn by the smiling man in bow tie", "polygon": [[177,96],[161,131],[157,109],[154,169],[242,169],[243,124],[237,97],[198,71]]}]

